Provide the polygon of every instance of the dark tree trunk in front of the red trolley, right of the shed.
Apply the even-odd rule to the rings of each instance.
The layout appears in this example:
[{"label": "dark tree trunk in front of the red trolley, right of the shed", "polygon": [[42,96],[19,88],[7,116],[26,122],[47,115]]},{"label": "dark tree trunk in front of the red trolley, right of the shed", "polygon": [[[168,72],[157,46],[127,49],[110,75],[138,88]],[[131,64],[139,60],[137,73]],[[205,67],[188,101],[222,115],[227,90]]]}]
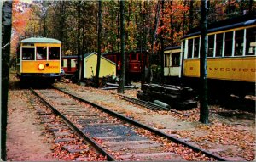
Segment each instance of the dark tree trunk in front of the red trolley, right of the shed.
[{"label": "dark tree trunk in front of the red trolley, right of the shed", "polygon": [[121,75],[118,93],[125,93],[125,1],[120,1]]}]

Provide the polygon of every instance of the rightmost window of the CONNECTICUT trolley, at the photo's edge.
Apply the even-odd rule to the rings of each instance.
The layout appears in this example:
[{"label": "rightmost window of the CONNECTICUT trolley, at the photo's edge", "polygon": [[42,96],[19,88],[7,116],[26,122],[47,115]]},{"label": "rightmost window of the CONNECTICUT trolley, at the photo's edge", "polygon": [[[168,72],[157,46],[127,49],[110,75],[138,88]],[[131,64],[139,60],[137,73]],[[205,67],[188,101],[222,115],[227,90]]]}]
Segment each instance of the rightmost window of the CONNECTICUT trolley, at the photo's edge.
[{"label": "rightmost window of the CONNECTICUT trolley, at the photo's edge", "polygon": [[255,55],[255,47],[256,47],[255,34],[256,33],[254,28],[247,29],[246,55]]}]

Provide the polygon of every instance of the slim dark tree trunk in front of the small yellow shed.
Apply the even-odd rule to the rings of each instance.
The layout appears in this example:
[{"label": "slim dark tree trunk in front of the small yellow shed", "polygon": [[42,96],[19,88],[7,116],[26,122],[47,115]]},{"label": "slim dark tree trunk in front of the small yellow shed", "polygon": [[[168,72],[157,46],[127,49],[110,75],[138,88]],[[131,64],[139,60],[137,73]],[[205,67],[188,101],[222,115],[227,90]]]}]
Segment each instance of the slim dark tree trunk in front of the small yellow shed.
[{"label": "slim dark tree trunk in front of the small yellow shed", "polygon": [[101,69],[101,56],[102,56],[102,0],[99,1],[98,8],[98,54],[97,54],[97,66],[96,66],[96,87],[100,86],[99,75]]}]

